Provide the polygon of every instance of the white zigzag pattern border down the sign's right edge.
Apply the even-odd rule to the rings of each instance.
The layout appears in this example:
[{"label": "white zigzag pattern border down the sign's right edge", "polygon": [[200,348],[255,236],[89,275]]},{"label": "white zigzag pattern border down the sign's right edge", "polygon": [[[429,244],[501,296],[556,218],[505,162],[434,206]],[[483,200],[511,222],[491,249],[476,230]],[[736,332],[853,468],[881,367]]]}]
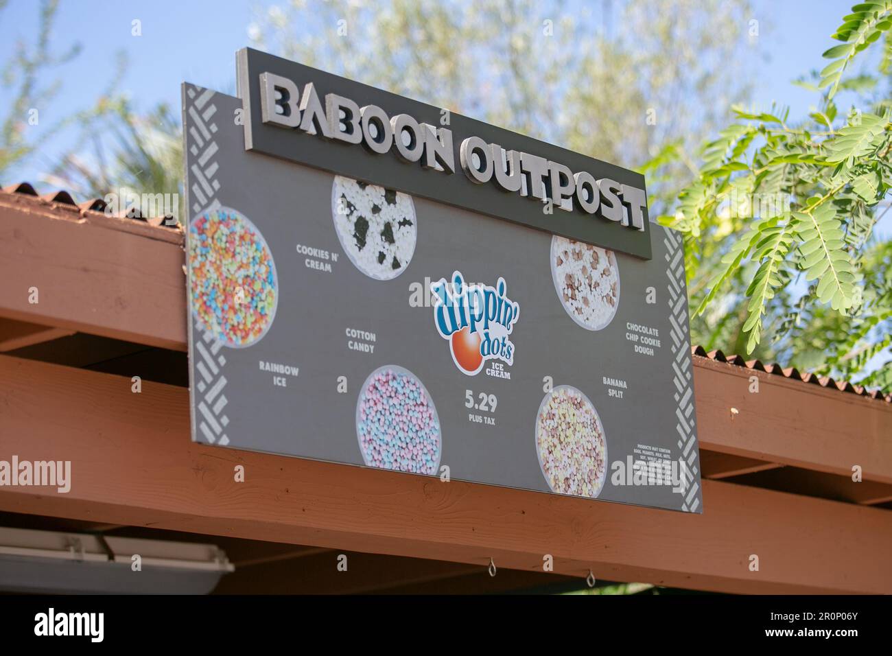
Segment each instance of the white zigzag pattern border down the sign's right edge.
[{"label": "white zigzag pattern border down the sign's right edge", "polygon": [[[690,342],[687,338],[688,331],[688,297],[685,291],[684,281],[684,248],[681,235],[674,230],[665,229],[664,244],[666,246],[666,278],[669,291],[669,322],[672,328],[669,336],[672,338],[673,349],[673,384],[675,386],[675,430],[678,432],[678,447],[681,456],[688,462],[690,471],[694,477],[698,475],[697,436],[694,434],[694,387],[693,373],[690,364]],[[697,511],[700,505],[698,491],[699,483],[691,480],[691,486],[681,502],[681,510],[686,512]]]}]

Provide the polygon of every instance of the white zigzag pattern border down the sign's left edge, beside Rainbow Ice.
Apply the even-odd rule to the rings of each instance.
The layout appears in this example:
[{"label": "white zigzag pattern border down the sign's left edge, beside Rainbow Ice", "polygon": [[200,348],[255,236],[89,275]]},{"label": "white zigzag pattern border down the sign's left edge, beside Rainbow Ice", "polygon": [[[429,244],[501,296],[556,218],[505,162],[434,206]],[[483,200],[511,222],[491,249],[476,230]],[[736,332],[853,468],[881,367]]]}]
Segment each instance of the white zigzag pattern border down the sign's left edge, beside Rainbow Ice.
[{"label": "white zigzag pattern border down the sign's left edge, beside Rainbow Ice", "polygon": [[[219,164],[214,159],[219,149],[214,141],[217,123],[211,122],[211,118],[217,113],[217,105],[211,102],[214,94],[211,89],[186,89],[186,95],[192,101],[186,112],[189,115],[188,147],[193,159],[188,172],[193,180],[190,190],[195,199],[192,204],[192,211],[195,213],[204,208],[216,209],[220,206],[217,199],[220,183],[216,177]],[[190,317],[189,320],[193,319]],[[220,353],[223,346],[223,342],[205,330],[201,340],[194,340],[195,348],[191,355],[196,375],[201,376],[196,384],[197,393],[201,394],[198,402],[200,416],[196,418],[198,430],[209,444],[225,446],[229,444],[226,435],[229,418],[223,414],[227,405],[226,394],[223,394],[223,388],[227,384],[226,376],[223,375],[226,356]]]}]

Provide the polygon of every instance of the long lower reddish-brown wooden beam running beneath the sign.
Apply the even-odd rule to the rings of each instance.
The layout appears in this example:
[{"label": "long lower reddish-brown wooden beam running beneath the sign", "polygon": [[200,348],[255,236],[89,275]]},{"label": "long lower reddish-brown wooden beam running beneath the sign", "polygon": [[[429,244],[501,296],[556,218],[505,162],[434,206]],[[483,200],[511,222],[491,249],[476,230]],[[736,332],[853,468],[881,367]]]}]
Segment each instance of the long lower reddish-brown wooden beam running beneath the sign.
[{"label": "long lower reddish-brown wooden beam running beneath the sign", "polygon": [[888,511],[711,480],[703,515],[659,511],[192,444],[188,421],[181,387],[0,356],[0,457],[72,467],[70,493],[4,486],[0,510],[477,567],[550,554],[567,576],[701,590],[892,592]]}]

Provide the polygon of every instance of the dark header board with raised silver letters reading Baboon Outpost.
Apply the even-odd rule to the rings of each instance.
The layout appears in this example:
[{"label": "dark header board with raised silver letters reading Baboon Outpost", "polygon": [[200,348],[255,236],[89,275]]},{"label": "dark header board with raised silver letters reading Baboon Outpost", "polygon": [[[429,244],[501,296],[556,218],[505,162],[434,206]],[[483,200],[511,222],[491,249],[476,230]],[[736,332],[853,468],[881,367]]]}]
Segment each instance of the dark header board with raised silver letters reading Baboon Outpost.
[{"label": "dark header board with raised silver letters reading Baboon Outpost", "polygon": [[237,62],[250,151],[650,258],[639,173],[250,48]]}]

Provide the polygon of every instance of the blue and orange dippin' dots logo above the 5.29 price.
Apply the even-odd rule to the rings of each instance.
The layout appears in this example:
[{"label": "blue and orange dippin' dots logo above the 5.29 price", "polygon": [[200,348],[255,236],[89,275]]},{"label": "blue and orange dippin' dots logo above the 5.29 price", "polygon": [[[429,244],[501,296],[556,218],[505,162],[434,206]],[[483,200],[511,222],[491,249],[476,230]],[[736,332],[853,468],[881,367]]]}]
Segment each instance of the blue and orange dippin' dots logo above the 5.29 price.
[{"label": "blue and orange dippin' dots logo above the 5.29 price", "polygon": [[461,272],[452,281],[440,278],[434,291],[434,323],[449,340],[452,361],[458,370],[476,376],[487,360],[514,363],[514,344],[508,339],[520,314],[520,306],[505,295],[505,278],[496,286],[466,285]]}]

